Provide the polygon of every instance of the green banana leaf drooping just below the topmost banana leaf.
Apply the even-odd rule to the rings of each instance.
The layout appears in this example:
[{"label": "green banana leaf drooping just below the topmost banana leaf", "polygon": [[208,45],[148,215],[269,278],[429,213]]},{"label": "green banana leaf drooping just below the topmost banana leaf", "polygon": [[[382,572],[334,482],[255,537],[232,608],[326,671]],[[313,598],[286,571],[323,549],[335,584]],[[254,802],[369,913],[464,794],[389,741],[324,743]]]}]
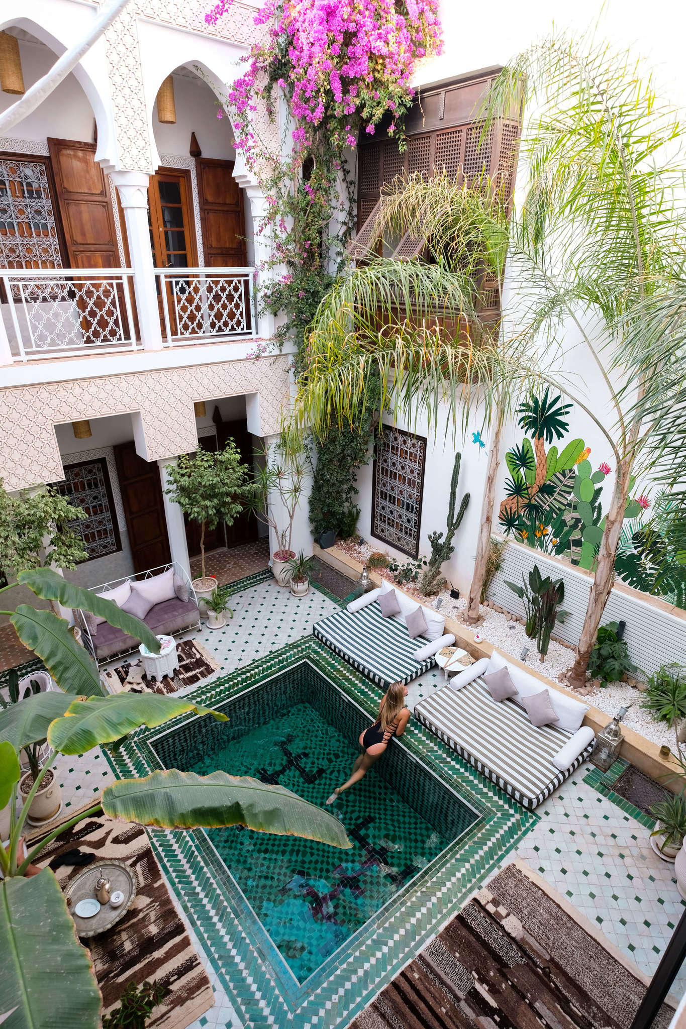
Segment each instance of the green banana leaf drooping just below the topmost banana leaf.
[{"label": "green banana leaf drooping just below the topmost banana leaf", "polygon": [[67,694],[102,697],[98,666],[80,646],[64,618],[20,604],[9,620],[25,646],[42,658],[48,672]]}]

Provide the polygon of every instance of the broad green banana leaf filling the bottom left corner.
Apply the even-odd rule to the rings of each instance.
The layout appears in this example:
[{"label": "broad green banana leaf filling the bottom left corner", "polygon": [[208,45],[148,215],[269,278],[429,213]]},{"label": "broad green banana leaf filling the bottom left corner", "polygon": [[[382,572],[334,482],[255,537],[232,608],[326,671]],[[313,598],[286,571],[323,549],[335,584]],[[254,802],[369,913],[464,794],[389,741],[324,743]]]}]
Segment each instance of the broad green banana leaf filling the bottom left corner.
[{"label": "broad green banana leaf filling the bottom left corner", "polygon": [[0,1012],[7,1029],[98,1029],[93,962],[55,874],[0,884]]}]

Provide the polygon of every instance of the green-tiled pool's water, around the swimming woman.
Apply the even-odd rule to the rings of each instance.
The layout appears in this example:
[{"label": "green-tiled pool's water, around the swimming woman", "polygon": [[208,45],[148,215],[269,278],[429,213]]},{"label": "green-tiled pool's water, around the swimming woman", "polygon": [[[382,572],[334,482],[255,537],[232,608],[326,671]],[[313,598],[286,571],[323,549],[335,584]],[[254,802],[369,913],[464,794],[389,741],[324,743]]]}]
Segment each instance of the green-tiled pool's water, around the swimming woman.
[{"label": "green-tiled pool's water, around the swimming woman", "polygon": [[[193,720],[158,738],[163,764],[254,776],[319,806],[349,777],[370,723],[306,663],[221,710],[229,722]],[[206,830],[299,982],[477,817],[397,741],[328,810],[346,826],[351,850],[240,826]]]}]

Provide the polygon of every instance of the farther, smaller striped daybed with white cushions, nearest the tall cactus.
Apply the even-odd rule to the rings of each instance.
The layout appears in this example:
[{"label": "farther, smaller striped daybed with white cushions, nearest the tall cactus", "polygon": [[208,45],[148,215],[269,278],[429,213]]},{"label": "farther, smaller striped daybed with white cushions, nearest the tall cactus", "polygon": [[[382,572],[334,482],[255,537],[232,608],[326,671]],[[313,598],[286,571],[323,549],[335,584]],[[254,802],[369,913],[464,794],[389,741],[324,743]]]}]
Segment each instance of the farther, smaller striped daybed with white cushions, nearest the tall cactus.
[{"label": "farther, smaller striped daybed with white cushions, nearest the tall cactus", "polygon": [[[394,593],[399,612],[385,616],[378,602],[382,595]],[[421,608],[426,631],[413,638],[407,618]],[[411,682],[427,672],[442,647],[455,643],[455,636],[444,634],[445,618],[433,608],[418,604],[401,590],[384,580],[377,590],[351,601],[316,623],[313,633],[331,650],[384,689],[392,682]]]}]

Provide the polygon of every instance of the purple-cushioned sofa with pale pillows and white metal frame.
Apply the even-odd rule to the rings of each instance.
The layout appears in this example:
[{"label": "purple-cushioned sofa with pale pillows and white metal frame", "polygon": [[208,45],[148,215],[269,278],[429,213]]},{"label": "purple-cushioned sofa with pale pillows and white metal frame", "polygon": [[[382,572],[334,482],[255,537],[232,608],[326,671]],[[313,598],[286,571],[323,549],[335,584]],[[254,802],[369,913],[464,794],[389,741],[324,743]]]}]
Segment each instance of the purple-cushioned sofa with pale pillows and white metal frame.
[{"label": "purple-cushioned sofa with pale pillows and white metal frame", "polygon": [[[174,636],[201,624],[195,591],[176,561],[94,587],[92,592],[140,617],[155,636]],[[74,614],[83,644],[99,665],[138,649],[137,639],[109,622],[88,611]]]}]

